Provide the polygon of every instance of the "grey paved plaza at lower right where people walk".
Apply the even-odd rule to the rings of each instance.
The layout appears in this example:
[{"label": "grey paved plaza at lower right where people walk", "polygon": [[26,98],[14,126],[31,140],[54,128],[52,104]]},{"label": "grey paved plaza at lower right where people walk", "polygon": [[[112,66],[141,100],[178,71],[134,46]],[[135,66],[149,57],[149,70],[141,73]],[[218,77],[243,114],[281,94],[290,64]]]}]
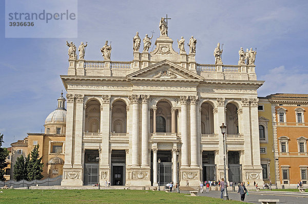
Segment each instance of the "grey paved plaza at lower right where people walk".
[{"label": "grey paved plaza at lower right where people walk", "polygon": [[[181,191],[181,193],[189,193],[189,191]],[[228,191],[229,199],[240,200],[240,195],[233,191]],[[198,196],[208,196],[214,198],[220,198],[220,191],[209,191],[209,193],[200,193]],[[279,199],[279,203],[308,203],[308,193],[300,194],[294,192],[248,192],[248,196],[245,196],[245,202],[260,203],[259,199]]]}]

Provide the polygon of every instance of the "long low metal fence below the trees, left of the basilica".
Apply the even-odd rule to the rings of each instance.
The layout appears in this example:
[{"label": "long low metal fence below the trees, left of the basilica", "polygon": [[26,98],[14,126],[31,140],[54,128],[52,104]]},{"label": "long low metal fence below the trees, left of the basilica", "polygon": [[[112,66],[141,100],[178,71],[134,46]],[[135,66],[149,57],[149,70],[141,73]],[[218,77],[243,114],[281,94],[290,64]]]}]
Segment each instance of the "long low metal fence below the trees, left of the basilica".
[{"label": "long low metal fence below the trees, left of the basilica", "polygon": [[14,188],[23,188],[27,186],[61,186],[61,181],[62,181],[62,175],[57,176],[55,178],[46,178],[43,180],[19,180],[19,181],[14,181],[14,180],[6,180],[6,181],[0,181],[0,187],[14,187]]}]

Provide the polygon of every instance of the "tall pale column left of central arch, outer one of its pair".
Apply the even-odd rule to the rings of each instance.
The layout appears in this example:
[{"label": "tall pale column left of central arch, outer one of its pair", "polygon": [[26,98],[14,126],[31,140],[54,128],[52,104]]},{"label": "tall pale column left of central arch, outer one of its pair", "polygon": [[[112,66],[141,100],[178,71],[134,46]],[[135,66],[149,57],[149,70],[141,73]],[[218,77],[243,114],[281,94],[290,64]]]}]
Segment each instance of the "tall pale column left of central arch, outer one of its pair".
[{"label": "tall pale column left of central arch, outer one of its pair", "polygon": [[131,136],[131,166],[139,166],[138,135],[139,135],[139,96],[131,95],[132,103],[132,136]]}]

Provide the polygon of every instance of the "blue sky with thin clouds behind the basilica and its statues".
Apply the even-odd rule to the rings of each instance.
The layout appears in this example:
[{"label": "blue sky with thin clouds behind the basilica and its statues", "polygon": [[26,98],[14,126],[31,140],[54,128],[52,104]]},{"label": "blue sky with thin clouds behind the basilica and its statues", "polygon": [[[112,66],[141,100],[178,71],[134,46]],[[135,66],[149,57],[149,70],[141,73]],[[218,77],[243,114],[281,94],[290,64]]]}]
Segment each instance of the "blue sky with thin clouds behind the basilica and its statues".
[{"label": "blue sky with thin clouds behind the basilica and its statues", "polygon": [[184,36],[187,43],[194,35],[198,63],[215,62],[218,42],[224,44],[225,65],[237,65],[240,47],[257,48],[257,78],[265,80],[259,96],[308,90],[308,1],[78,1],[78,38],[5,38],[5,1],[0,6],[4,147],[44,131],[45,118],[64,89],[60,74],[67,74],[66,40],[76,46],[87,41],[89,60],[103,60],[100,48],[109,40],[111,60],[130,61],[136,31],[143,38],[154,30],[155,42],[166,14],[172,18],[168,35],[174,49],[177,38]]}]

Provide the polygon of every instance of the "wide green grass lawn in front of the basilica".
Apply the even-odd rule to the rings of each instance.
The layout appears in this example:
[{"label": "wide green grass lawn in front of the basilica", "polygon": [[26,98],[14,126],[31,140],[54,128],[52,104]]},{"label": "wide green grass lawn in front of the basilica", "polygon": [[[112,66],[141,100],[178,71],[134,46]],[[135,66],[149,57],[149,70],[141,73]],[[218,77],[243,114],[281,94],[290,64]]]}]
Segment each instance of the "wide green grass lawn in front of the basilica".
[{"label": "wide green grass lawn in front of the basilica", "polygon": [[[0,203],[243,203],[204,196],[139,190],[1,189]],[[187,195],[187,194],[186,194]]]}]

